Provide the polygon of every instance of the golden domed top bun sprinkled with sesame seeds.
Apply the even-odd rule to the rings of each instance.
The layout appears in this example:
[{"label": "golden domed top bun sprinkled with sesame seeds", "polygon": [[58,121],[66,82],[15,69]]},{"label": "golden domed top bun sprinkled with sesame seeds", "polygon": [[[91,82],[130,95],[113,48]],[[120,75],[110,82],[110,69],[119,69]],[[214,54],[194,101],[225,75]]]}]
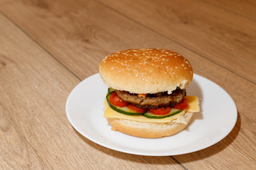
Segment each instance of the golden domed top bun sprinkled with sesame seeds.
[{"label": "golden domed top bun sprinkled with sesame seeds", "polygon": [[132,49],[114,52],[100,63],[107,86],[134,94],[171,94],[185,89],[193,79],[191,64],[176,52],[164,49]]}]

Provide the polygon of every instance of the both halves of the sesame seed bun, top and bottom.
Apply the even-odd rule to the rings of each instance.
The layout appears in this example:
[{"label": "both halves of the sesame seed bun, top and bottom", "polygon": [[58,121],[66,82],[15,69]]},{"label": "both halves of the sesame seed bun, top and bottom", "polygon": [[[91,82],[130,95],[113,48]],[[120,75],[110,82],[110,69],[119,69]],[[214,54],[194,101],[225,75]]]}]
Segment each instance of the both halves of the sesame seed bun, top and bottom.
[{"label": "both halves of the sesame seed bun, top and bottom", "polygon": [[[122,50],[100,63],[100,76],[113,89],[134,94],[171,94],[177,87],[186,89],[193,79],[191,64],[176,52],[164,49]],[[175,93],[174,93],[175,94]],[[105,105],[104,110],[109,107]],[[185,113],[170,123],[146,123],[107,118],[112,130],[136,137],[158,138],[181,132],[193,113]]]}]

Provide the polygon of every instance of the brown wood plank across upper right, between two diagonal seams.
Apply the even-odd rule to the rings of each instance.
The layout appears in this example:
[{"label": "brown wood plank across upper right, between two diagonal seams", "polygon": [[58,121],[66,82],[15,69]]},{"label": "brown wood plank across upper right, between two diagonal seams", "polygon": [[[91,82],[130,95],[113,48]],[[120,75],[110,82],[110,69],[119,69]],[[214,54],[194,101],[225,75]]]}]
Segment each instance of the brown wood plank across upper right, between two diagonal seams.
[{"label": "brown wood plank across upper right, between two diagonal seams", "polygon": [[99,1],[256,83],[254,21],[202,1]]}]

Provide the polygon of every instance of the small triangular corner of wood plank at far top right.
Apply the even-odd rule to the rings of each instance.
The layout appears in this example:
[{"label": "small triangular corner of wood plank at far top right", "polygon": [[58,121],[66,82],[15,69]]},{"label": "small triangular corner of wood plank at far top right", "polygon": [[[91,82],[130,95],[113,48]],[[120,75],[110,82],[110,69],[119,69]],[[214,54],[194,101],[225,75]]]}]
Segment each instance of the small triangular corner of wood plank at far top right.
[{"label": "small triangular corner of wood plank at far top right", "polygon": [[238,15],[244,18],[249,18],[250,20],[256,21],[256,1],[254,0],[203,1],[205,1],[208,4],[218,6],[219,8],[231,11],[233,13],[237,13]]}]

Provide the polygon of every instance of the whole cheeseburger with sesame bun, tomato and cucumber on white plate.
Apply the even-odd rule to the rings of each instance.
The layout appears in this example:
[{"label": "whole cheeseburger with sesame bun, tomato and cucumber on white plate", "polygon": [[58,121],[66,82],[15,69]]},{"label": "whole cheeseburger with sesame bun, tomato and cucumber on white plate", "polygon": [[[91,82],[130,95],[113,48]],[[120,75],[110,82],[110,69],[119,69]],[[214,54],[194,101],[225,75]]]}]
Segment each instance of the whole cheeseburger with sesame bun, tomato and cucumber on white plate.
[{"label": "whole cheeseburger with sesame bun, tomato and cucumber on white plate", "polygon": [[105,57],[99,69],[109,87],[103,108],[112,130],[166,137],[181,132],[199,111],[198,98],[186,96],[193,69],[176,52],[122,50]]}]

